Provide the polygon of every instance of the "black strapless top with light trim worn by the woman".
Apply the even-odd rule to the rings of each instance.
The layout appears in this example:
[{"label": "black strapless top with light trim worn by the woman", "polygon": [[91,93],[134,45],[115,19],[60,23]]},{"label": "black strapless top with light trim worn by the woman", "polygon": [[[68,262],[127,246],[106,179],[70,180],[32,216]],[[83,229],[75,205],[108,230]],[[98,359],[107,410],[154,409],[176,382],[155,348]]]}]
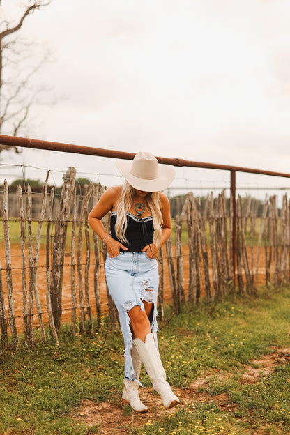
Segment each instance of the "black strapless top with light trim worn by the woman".
[{"label": "black strapless top with light trim worn by the woman", "polygon": [[[127,229],[125,231],[125,236],[129,243],[124,243],[119,240],[116,236],[115,224],[116,224],[117,213],[113,211],[111,213],[111,236],[116,241],[119,241],[125,247],[128,247],[128,251],[125,252],[140,252],[146,245],[152,243],[154,227],[153,227],[153,217],[143,217],[139,218],[130,211],[127,212]],[[123,251],[121,249],[121,251]]]}]

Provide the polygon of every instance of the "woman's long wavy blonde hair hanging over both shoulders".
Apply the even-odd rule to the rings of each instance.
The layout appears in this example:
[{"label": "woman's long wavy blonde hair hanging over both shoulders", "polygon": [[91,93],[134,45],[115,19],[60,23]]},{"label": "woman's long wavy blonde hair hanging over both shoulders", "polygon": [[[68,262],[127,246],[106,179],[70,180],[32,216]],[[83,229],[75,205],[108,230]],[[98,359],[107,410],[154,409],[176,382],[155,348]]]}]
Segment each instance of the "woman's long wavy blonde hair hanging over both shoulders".
[{"label": "woman's long wavy blonde hair hanging over both shoulders", "polygon": [[[121,191],[121,197],[116,205],[117,218],[115,224],[116,236],[123,243],[128,243],[128,240],[125,237],[125,231],[127,229],[127,212],[130,211],[134,195],[135,189],[132,188],[128,181],[125,181]],[[151,211],[153,217],[153,243],[159,245],[162,238],[163,224],[159,192],[149,192],[144,198],[144,206]]]}]

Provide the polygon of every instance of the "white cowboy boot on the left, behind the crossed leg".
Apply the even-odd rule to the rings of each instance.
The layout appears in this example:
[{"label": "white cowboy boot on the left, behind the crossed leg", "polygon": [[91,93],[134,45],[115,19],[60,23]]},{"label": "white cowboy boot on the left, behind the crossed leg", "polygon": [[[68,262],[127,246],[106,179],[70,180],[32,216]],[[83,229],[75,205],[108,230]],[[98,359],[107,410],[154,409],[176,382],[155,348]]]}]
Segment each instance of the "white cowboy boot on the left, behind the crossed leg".
[{"label": "white cowboy boot on the left, behind the crossed leg", "polygon": [[124,379],[124,390],[122,395],[123,403],[128,403],[132,406],[134,411],[139,413],[145,413],[148,411],[146,405],[144,405],[139,399],[138,388],[139,388],[139,376],[142,366],[142,360],[140,360],[137,350],[132,346],[131,349],[132,363],[134,367],[134,372],[136,379],[135,381],[130,381],[129,379]]}]

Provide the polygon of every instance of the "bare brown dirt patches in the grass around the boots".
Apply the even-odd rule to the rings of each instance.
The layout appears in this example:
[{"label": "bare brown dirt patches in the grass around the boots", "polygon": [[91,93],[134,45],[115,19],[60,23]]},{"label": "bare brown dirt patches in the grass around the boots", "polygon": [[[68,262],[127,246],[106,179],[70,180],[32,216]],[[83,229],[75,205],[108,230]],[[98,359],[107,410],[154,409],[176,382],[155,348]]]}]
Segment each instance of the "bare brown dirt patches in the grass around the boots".
[{"label": "bare brown dirt patches in the grass around the boots", "polygon": [[[245,365],[243,372],[241,372],[240,383],[256,383],[263,376],[273,373],[277,365],[287,361],[290,361],[290,349],[277,349],[268,356],[252,361],[252,365],[258,368],[253,369],[250,365]],[[227,374],[218,374],[214,376],[214,379],[224,379],[229,378],[229,376]],[[176,388],[174,392],[181,400],[181,404],[176,408],[165,410],[160,397],[153,392],[152,388],[146,388],[140,390],[140,398],[148,406],[148,413],[133,412],[130,415],[125,415],[121,397],[119,397],[119,403],[117,404],[112,402],[95,404],[94,402],[83,401],[77,413],[73,413],[73,418],[87,426],[98,425],[98,434],[101,435],[128,435],[133,427],[150,425],[151,422],[156,420],[162,421],[165,415],[168,417],[170,414],[176,413],[180,408],[186,409],[191,402],[215,402],[227,412],[234,411],[226,393],[211,396],[206,394],[206,386],[212,378],[213,376],[204,376],[191,383],[188,388]],[[259,435],[259,432],[256,431],[255,434]]]}]

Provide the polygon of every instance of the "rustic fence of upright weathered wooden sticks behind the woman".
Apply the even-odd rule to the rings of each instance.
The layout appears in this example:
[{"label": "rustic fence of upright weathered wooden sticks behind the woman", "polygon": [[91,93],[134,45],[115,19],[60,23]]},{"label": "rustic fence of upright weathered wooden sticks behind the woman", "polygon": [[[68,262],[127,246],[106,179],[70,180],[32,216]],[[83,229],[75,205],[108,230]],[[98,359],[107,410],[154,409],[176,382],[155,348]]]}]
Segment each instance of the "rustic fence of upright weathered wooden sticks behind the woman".
[{"label": "rustic fence of upright weathered wooden sticks behind the woman", "polygon": [[[47,325],[58,344],[63,321],[71,322],[73,333],[79,330],[92,333],[100,325],[102,314],[109,314],[112,322],[117,321],[116,308],[105,284],[105,245],[88,225],[89,210],[104,188],[91,183],[83,197],[77,197],[75,169],[70,167],[63,178],[61,197],[57,201],[54,188],[47,192],[47,179],[37,222],[32,219],[31,188],[28,186],[26,194],[18,188],[20,243],[16,245],[17,257],[15,242],[10,241],[13,218],[9,220],[8,185],[4,183],[2,245],[5,255],[1,254],[0,258],[2,349],[7,348],[8,342],[17,348],[17,331],[23,331],[24,342],[33,346],[36,326],[45,342]],[[178,313],[187,303],[198,304],[201,297],[210,302],[222,300],[234,291],[241,295],[255,295],[261,284],[271,282],[276,287],[289,284],[289,207],[287,195],[283,198],[281,210],[278,210],[273,196],[266,199],[258,217],[255,201],[238,196],[238,286],[235,288],[231,266],[232,201],[221,192],[217,198],[209,194],[201,204],[200,199],[188,193],[181,214],[173,219],[173,234],[165,248],[160,250],[158,312],[161,318],[165,300],[171,300],[174,312]],[[103,222],[109,230],[108,215]],[[35,230],[36,235],[33,235]],[[43,240],[45,243],[42,244]],[[20,261],[15,266],[18,257]],[[69,262],[67,258],[70,258]],[[16,275],[19,270],[20,280]],[[42,270],[45,271],[44,284],[43,281],[40,284]]]}]

